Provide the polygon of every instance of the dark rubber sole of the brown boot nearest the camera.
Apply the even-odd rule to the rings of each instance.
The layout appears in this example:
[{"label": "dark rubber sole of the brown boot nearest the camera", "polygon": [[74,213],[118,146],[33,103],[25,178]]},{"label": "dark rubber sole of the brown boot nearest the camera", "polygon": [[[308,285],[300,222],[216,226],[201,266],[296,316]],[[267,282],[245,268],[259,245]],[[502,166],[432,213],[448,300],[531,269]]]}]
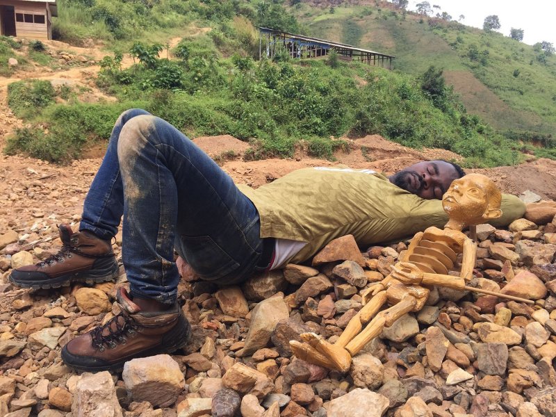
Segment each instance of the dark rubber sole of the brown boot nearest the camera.
[{"label": "dark rubber sole of the brown boot nearest the camera", "polygon": [[142,350],[141,352],[137,352],[136,354],[130,355],[129,357],[126,357],[122,361],[119,361],[117,363],[112,363],[111,365],[79,366],[76,364],[67,363],[64,359],[64,356],[67,355],[65,346],[62,349],[62,360],[64,361],[66,366],[76,370],[79,373],[101,372],[103,370],[108,370],[108,372],[111,373],[121,373],[122,370],[124,370],[124,364],[127,361],[131,361],[131,359],[152,357],[157,354],[170,354],[175,352],[176,350],[181,349],[182,347],[185,347],[191,336],[191,325],[189,324],[188,320],[186,320],[186,318],[183,316],[183,313],[179,316],[176,327],[179,327],[176,333],[174,334],[172,332],[172,330],[174,329],[172,329],[170,332],[168,332],[162,337],[160,344],[153,346],[147,350]]}]

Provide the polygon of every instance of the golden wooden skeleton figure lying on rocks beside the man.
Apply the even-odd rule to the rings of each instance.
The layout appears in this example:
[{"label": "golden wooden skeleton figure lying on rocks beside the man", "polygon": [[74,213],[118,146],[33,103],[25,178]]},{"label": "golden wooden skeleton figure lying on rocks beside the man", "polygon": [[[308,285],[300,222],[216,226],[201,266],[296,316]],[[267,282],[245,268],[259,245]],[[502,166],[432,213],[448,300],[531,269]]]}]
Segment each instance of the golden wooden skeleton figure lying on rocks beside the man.
[{"label": "golden wooden skeleton figure lying on rocks beside the man", "polygon": [[[500,199],[500,190],[484,175],[468,174],[452,182],[442,199],[449,217],[444,229],[429,227],[414,236],[391,274],[363,291],[363,308],[350,320],[336,343],[328,343],[314,333],[304,333],[302,342],[290,342],[295,356],[346,372],[352,357],[381,334],[384,327],[390,327],[406,313],[420,311],[427,301],[429,288],[435,285],[530,303],[530,300],[466,286],[473,277],[477,247],[462,230],[499,218]],[[448,275],[459,254],[462,254],[459,277]],[[387,302],[391,307],[380,311]]]}]

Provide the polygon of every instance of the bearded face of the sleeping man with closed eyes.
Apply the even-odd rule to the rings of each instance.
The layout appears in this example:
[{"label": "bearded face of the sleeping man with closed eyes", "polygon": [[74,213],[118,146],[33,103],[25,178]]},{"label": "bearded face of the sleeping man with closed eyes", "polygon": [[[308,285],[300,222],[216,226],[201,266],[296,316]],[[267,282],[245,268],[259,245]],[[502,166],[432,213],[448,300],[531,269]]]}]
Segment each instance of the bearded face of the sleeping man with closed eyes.
[{"label": "bearded face of the sleeping man with closed eyes", "polygon": [[421,198],[442,199],[452,181],[464,175],[464,170],[456,163],[437,159],[419,162],[404,168],[391,175],[389,180],[395,186]]}]

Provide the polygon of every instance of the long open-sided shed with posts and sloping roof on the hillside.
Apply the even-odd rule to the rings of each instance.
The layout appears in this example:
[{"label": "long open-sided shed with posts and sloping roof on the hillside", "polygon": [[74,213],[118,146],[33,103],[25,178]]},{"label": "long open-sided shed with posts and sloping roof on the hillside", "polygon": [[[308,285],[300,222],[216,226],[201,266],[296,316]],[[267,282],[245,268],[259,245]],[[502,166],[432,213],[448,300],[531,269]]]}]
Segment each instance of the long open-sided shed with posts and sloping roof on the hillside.
[{"label": "long open-sided shed with posts and sloping roof on the hillside", "polygon": [[386,67],[389,70],[392,69],[392,59],[395,58],[395,56],[353,47],[348,44],[259,27],[259,59],[263,55],[263,39],[265,40],[266,56],[268,58],[272,58],[279,51],[288,51],[291,58],[300,59],[319,58],[327,56],[330,51],[336,51],[343,60],[360,61],[367,65]]}]

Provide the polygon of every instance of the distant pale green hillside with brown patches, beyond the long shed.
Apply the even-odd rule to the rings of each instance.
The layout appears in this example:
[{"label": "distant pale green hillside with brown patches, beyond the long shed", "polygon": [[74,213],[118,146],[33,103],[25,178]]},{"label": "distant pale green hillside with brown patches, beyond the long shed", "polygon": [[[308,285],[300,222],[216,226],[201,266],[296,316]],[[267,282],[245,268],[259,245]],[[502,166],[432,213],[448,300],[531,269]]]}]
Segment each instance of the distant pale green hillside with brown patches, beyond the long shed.
[{"label": "distant pale green hillside with brown patches, beyond the long shed", "polygon": [[470,113],[498,129],[556,131],[556,56],[500,33],[379,6],[291,8],[315,36],[397,56],[395,69],[442,67]]}]

